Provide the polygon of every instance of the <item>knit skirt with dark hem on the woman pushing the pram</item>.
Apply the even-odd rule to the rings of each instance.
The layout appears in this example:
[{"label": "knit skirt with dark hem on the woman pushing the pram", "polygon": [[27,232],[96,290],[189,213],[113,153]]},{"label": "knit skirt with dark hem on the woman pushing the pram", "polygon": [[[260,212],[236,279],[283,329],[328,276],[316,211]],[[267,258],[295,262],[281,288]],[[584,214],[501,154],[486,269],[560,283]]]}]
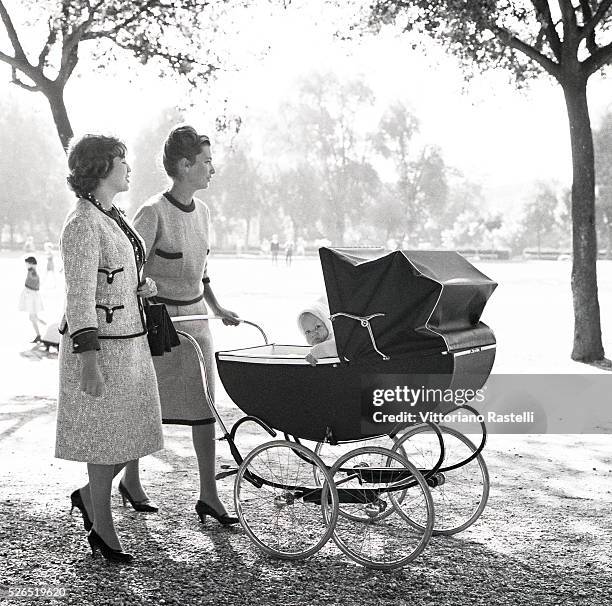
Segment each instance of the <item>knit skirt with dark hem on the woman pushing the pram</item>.
[{"label": "knit skirt with dark hem on the woman pushing the pram", "polygon": [[[204,315],[207,312],[204,301],[191,305],[168,305],[168,314],[175,316]],[[204,354],[208,389],[214,398],[215,393],[215,362],[213,343],[207,320],[181,322],[175,328],[193,336]],[[176,425],[206,425],[214,423],[204,394],[202,374],[197,354],[191,343],[181,337],[179,347],[171,353],[153,358],[159,398],[162,407],[164,423]]]}]

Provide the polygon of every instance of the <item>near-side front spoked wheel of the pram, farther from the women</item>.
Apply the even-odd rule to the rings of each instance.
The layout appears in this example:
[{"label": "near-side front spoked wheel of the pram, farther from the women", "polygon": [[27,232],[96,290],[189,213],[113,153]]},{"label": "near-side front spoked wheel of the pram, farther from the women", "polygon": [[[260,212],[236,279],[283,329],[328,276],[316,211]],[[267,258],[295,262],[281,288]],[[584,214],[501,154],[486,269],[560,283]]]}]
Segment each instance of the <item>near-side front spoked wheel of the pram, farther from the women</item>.
[{"label": "near-side front spoked wheel of the pram, farther from the women", "polygon": [[[333,540],[345,554],[384,570],[403,566],[423,551],[434,526],[434,505],[412,463],[387,448],[366,446],[342,455],[331,475],[342,508]],[[334,513],[326,505],[328,486],[322,498],[326,518]],[[418,527],[408,523],[415,519]]]}]

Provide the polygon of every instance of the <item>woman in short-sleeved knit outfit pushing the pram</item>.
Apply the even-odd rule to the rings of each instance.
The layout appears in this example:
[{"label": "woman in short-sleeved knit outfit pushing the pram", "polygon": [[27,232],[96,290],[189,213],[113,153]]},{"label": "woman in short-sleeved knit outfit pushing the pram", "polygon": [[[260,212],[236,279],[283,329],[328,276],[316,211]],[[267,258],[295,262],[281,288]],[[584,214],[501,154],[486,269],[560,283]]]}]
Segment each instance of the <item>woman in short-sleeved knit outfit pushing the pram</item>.
[{"label": "woman in short-sleeved knit outfit pushing the pram", "polygon": [[[206,189],[215,170],[210,141],[190,126],[175,128],[164,146],[164,168],[172,186],[153,196],[136,212],[134,227],[148,251],[144,275],[157,284],[156,301],[165,303],[171,316],[211,313],[226,325],[238,324],[238,316],[222,307],[213,292],[207,272],[210,252],[210,213],[197,198]],[[214,357],[208,322],[181,323],[180,329],[193,335],[204,353],[208,388],[214,394]],[[172,353],[154,359],[164,423],[189,425],[200,472],[200,493],[196,512],[222,525],[235,524],[219,500],[215,481],[214,417],[206,403],[200,368],[193,347],[183,341]],[[126,467],[120,490],[135,509],[156,509],[148,503],[140,483],[137,463]],[[148,507],[147,507],[148,505]]]}]

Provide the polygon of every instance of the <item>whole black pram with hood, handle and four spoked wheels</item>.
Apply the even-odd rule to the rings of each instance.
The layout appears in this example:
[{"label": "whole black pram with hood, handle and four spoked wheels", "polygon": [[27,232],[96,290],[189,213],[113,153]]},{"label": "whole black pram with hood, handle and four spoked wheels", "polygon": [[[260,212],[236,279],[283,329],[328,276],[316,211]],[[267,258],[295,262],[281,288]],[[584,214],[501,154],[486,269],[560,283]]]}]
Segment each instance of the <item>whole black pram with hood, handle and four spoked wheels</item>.
[{"label": "whole black pram with hood, handle and four spoked wheels", "polygon": [[[480,444],[451,427],[364,418],[378,380],[418,377],[441,392],[480,389],[495,338],[480,322],[495,282],[453,252],[319,251],[337,358],[312,367],[309,348],[268,343],[216,353],[221,381],[246,413],[228,430],[209,404],[239,467],[234,502],[265,553],[301,559],[329,538],[349,557],[389,569],[416,558],[432,534],[454,534],[481,515],[489,478]],[[195,340],[204,385],[206,369]],[[440,392],[440,393],[441,393]],[[468,411],[474,409],[463,404]],[[455,401],[430,411],[449,413]],[[273,440],[243,457],[238,429],[258,424]],[[278,433],[284,439],[274,439]],[[306,442],[309,442],[306,444]]]}]

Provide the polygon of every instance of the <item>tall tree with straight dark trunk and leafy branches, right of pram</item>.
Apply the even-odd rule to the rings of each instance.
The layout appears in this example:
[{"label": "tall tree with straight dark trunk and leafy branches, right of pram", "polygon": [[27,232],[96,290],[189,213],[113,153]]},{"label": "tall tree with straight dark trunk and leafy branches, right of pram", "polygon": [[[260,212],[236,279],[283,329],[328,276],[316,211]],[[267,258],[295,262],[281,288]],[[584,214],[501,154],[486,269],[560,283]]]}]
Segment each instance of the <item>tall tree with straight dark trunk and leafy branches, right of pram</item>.
[{"label": "tall tree with straight dark trunk and leafy branches, right of pram", "polygon": [[601,360],[595,174],[586,87],[612,60],[612,0],[375,0],[367,25],[426,34],[469,70],[505,69],[521,85],[548,74],[562,87],[572,146],[572,358]]}]

